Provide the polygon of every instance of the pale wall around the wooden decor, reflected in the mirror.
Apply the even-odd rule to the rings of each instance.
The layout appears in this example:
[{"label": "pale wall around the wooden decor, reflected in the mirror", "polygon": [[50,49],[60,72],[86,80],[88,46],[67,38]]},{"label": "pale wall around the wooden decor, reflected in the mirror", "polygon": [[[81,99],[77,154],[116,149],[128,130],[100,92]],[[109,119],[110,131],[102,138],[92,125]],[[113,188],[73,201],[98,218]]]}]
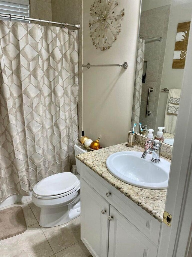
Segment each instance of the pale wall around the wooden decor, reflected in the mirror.
[{"label": "pale wall around the wooden decor, reflected in the mirror", "polygon": [[[167,87],[169,89],[181,89],[184,69],[172,69],[173,53],[175,49],[177,24],[185,21],[190,21],[191,13],[191,0],[172,0],[161,88]],[[156,127],[164,125],[164,115],[167,103],[167,96],[168,92],[160,91]]]}]

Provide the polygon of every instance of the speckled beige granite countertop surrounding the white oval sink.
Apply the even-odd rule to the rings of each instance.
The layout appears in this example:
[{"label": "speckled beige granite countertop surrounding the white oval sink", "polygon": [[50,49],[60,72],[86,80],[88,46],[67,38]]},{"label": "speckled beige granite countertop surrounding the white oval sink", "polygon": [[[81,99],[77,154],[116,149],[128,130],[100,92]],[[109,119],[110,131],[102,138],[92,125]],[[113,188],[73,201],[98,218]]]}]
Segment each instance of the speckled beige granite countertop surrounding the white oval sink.
[{"label": "speckled beige granite countertop surrounding the white oval sink", "polygon": [[[106,159],[115,152],[121,151],[137,151],[144,152],[140,146],[128,148],[126,143],[109,146],[100,150],[77,155],[76,158],[82,161],[91,170],[104,178],[108,183],[114,186],[117,190],[139,205],[143,210],[148,212],[158,221],[163,221],[163,213],[165,209],[165,200],[167,189],[151,190],[136,186],[131,186],[114,177],[106,168]],[[162,157],[161,157],[162,158]],[[170,161],[170,160],[167,160]]]}]

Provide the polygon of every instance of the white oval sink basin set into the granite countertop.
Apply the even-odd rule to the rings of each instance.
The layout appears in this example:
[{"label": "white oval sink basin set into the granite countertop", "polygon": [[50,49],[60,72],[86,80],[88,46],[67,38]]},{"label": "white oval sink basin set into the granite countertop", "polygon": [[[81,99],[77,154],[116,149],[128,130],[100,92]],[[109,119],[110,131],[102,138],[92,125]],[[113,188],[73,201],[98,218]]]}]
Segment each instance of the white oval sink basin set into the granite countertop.
[{"label": "white oval sink basin set into the granite countertop", "polygon": [[142,152],[117,152],[106,161],[108,171],[119,180],[133,186],[148,189],[167,189],[170,162],[161,158],[160,163],[151,161],[152,154],[141,158]]}]

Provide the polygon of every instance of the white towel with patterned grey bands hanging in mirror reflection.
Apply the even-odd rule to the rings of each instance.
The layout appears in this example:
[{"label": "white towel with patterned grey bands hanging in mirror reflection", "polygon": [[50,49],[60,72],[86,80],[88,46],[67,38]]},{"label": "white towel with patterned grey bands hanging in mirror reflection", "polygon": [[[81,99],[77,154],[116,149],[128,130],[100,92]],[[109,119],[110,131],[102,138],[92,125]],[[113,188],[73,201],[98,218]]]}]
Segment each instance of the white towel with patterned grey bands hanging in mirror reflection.
[{"label": "white towel with patterned grey bands hanging in mirror reflection", "polygon": [[174,88],[169,90],[167,105],[165,108],[164,127],[165,131],[171,134],[175,134],[180,96],[181,89]]}]

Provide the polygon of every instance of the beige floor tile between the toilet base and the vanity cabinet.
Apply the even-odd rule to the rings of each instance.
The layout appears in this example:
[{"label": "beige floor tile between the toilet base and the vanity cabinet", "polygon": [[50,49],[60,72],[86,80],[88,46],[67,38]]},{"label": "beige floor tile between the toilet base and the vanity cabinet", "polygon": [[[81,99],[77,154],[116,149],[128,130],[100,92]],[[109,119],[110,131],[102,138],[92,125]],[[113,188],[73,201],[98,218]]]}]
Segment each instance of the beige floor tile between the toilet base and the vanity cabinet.
[{"label": "beige floor tile between the toilet base and the vanity cabinet", "polygon": [[80,217],[57,227],[41,227],[54,253],[80,240]]}]

